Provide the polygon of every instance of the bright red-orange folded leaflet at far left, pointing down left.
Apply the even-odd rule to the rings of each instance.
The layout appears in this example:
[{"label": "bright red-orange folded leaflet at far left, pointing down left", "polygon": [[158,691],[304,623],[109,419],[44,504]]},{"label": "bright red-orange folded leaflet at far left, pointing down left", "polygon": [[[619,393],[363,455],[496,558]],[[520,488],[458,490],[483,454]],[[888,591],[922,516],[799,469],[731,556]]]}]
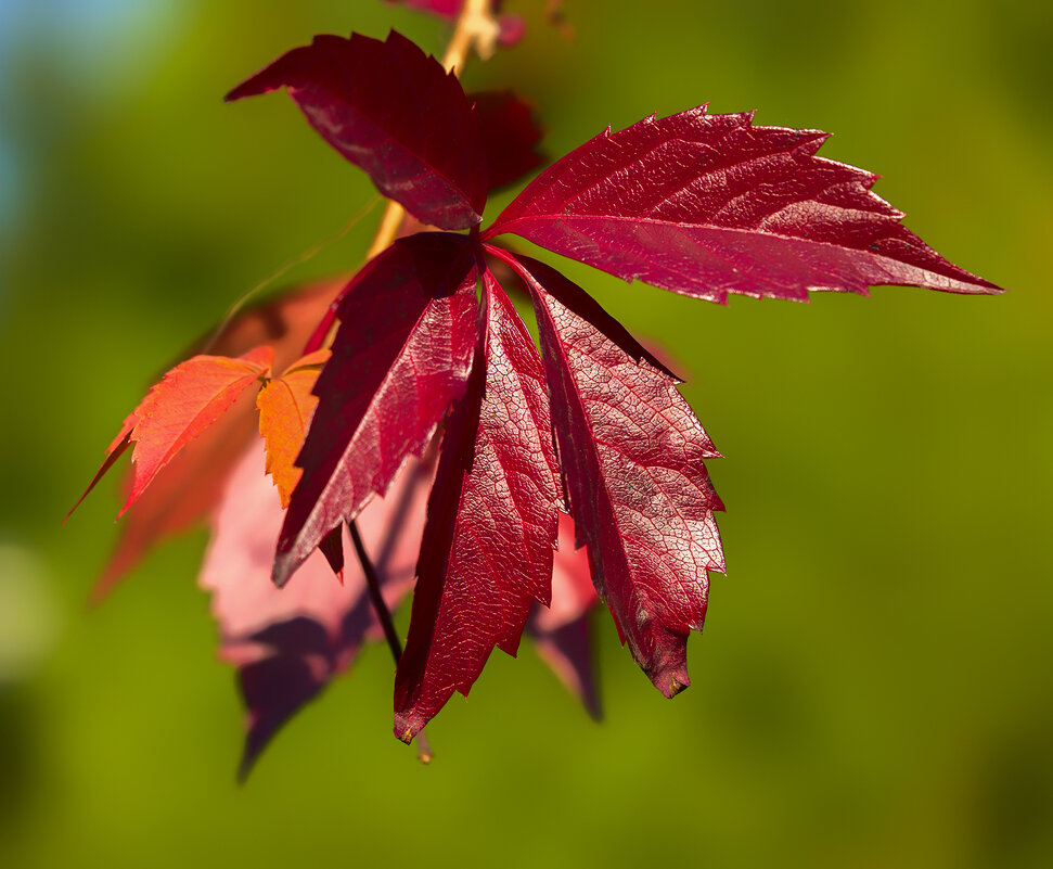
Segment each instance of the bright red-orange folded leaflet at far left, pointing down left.
[{"label": "bright red-orange folded leaflet at far left, pointing down left", "polygon": [[270,347],[257,347],[237,359],[194,356],[168,371],[125,420],[105,461],[69,512],[77,509],[120,453],[134,444],[131,493],[117,514],[119,519],[187,444],[219,419],[247,386],[270,372],[273,359]]}]

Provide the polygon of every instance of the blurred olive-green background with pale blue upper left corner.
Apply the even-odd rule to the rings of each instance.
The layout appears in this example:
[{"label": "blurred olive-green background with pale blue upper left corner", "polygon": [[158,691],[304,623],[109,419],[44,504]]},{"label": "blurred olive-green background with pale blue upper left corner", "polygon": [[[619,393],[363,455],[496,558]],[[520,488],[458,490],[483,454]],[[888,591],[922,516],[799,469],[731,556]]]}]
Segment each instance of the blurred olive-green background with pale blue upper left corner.
[{"label": "blurred olive-green background with pale blue upper left corner", "polygon": [[[602,725],[525,644],[424,768],[377,647],[239,788],[204,534],[89,612],[113,481],[59,523],[150,378],[371,195],[287,100],[221,95],[316,33],[448,29],[374,0],[0,0],[0,865],[1053,865],[1053,7],[567,0],[567,41],[542,5],[509,2],[527,38],[466,79],[534,100],[551,153],[704,101],[833,130],[823,154],[1012,292],[719,308],[568,267],[666,343],[727,456],[691,690],[665,701],[598,618]],[[290,279],[354,267],[372,220]]]}]

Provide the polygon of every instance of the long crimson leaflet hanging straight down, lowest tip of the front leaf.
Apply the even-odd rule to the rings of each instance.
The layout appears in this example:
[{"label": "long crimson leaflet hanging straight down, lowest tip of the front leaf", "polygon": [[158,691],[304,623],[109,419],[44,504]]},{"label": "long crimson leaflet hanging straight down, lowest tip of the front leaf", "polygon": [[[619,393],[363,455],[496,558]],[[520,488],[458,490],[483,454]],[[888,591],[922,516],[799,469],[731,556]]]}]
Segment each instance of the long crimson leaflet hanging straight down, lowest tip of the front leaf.
[{"label": "long crimson leaflet hanging straight down, lowest tip of the front leaf", "polygon": [[497,646],[515,654],[531,604],[548,605],[558,498],[544,375],[489,272],[468,386],[450,419],[421,544],[395,734],[409,742]]}]

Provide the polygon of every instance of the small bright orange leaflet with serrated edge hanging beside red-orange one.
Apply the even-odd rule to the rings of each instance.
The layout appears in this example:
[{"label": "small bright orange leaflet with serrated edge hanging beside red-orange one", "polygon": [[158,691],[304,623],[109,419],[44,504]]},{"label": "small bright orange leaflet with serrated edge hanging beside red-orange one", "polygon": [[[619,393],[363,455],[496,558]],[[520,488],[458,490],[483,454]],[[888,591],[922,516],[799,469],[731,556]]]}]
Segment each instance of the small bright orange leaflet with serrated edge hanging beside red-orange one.
[{"label": "small bright orange leaflet with serrated edge hanging beside red-orange one", "polygon": [[288,507],[293,489],[304,473],[295,461],[318,405],[311,388],[329,356],[330,352],[324,349],[308,354],[290,366],[282,376],[268,381],[256,397],[259,433],[267,443],[267,473],[278,486],[282,509]]}]

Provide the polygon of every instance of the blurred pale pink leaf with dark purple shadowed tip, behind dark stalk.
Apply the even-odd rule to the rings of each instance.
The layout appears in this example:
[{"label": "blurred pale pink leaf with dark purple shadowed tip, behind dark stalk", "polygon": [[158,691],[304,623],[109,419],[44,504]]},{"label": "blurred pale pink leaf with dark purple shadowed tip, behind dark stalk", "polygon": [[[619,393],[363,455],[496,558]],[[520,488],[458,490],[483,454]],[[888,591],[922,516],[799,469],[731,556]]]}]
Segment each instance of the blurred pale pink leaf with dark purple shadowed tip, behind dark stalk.
[{"label": "blurred pale pink leaf with dark purple shadowed tip, behind dark stalk", "polygon": [[[391,609],[413,584],[431,476],[427,463],[407,468],[387,497],[374,500],[359,517]],[[295,582],[274,588],[270,571],[281,522],[281,503],[264,475],[257,439],[231,474],[213,516],[200,578],[213,593],[220,655],[237,666],[248,707],[243,776],[274,732],[345,669],[364,642],[383,636],[357,563],[341,586],[317,553]]]}]

